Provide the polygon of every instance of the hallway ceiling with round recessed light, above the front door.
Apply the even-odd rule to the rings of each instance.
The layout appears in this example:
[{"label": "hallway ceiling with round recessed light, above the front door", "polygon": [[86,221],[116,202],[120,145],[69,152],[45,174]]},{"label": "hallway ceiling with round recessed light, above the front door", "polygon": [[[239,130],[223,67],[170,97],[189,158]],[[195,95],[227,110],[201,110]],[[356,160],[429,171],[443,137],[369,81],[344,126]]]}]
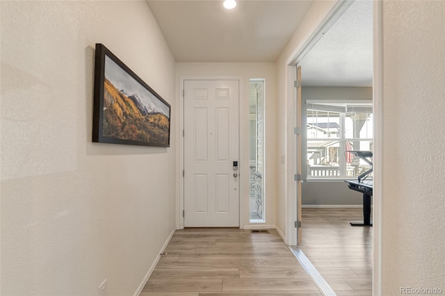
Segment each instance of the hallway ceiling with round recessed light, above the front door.
[{"label": "hallway ceiling with round recessed light, above the front door", "polygon": [[311,1],[150,1],[178,62],[275,62]]}]

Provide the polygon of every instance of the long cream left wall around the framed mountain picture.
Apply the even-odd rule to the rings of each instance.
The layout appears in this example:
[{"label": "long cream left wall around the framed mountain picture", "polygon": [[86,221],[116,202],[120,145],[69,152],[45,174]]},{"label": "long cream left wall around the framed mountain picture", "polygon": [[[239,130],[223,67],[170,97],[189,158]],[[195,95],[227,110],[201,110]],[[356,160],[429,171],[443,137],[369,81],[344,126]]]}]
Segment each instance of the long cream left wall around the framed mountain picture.
[{"label": "long cream left wall around the framed mountain picture", "polygon": [[1,295],[133,295],[175,229],[170,148],[92,143],[95,43],[175,110],[145,1],[1,2]]}]

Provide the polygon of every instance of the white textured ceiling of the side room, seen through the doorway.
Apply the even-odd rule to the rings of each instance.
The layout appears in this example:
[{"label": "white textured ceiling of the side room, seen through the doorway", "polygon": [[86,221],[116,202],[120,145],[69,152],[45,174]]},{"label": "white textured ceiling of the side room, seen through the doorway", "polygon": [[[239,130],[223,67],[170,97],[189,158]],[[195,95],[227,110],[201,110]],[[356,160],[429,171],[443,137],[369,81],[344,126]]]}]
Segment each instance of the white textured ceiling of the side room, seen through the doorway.
[{"label": "white textured ceiling of the side room, seen through the doorway", "polygon": [[305,86],[372,86],[372,1],[355,1],[298,65]]}]

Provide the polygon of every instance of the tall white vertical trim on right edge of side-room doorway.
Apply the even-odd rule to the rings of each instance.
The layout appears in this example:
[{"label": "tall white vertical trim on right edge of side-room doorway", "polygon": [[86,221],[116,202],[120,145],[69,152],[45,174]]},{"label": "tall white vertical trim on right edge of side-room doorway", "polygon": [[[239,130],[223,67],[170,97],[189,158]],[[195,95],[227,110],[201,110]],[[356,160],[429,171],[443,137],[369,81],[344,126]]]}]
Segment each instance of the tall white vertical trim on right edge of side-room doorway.
[{"label": "tall white vertical trim on right edge of side-room doorway", "polygon": [[373,6],[373,295],[382,295],[383,2]]}]

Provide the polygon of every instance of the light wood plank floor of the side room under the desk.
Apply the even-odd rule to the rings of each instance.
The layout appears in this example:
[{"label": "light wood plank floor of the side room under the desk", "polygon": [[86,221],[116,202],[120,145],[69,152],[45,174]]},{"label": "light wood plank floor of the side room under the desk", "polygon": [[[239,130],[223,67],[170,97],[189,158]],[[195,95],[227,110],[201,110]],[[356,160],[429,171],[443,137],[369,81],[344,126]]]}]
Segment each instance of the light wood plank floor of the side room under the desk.
[{"label": "light wood plank floor of the side room under the desk", "polygon": [[372,227],[362,208],[303,208],[302,244],[312,265],[337,295],[372,295]]}]

